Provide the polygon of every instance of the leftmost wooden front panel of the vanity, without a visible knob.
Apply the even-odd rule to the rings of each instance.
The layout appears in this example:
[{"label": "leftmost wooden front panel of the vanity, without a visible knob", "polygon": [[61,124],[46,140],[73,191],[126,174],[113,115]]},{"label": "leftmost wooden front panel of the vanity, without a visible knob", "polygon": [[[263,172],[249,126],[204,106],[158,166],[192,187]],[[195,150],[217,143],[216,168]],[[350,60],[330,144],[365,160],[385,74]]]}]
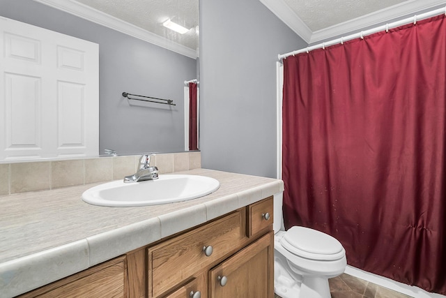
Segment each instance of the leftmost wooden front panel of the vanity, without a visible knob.
[{"label": "leftmost wooden front panel of the vanity, without a visible knob", "polygon": [[127,266],[121,256],[19,297],[128,297],[126,281]]}]

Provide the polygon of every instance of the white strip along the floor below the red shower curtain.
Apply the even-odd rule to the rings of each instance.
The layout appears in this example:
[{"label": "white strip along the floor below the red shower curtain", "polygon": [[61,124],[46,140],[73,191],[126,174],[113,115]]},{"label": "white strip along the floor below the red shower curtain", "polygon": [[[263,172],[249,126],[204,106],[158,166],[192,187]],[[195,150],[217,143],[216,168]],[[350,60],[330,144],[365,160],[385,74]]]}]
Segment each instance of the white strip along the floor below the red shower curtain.
[{"label": "white strip along the floor below the red shower curtain", "polygon": [[444,295],[426,292],[421,288],[414,287],[412,285],[406,285],[405,283],[399,283],[398,281],[393,281],[390,278],[357,269],[355,267],[351,267],[350,265],[346,267],[345,273],[357,278],[364,279],[364,281],[375,283],[376,285],[380,285],[381,287],[412,296],[414,298],[446,298],[446,296]]}]

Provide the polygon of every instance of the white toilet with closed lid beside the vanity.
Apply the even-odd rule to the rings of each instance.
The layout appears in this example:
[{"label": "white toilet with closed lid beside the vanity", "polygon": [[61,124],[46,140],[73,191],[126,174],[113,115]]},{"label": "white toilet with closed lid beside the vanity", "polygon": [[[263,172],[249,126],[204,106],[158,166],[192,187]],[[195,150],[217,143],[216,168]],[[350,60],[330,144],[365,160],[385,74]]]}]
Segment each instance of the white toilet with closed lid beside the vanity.
[{"label": "white toilet with closed lid beside the vanity", "polygon": [[330,298],[328,278],[346,269],[346,251],[328,234],[304,227],[284,230],[283,194],[274,195],[274,291],[282,298]]}]

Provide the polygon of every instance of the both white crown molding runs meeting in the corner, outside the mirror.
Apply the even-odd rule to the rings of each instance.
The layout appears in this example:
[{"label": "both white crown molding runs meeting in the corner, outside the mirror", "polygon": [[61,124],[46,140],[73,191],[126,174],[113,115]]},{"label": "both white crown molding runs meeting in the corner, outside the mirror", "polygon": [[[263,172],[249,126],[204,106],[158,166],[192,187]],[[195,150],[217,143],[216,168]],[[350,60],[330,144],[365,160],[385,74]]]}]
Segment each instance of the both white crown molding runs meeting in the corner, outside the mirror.
[{"label": "both white crown molding runs meeting in the corner, outside the mirror", "polygon": [[283,0],[259,1],[309,44],[446,4],[446,0],[410,0],[313,32]]}]

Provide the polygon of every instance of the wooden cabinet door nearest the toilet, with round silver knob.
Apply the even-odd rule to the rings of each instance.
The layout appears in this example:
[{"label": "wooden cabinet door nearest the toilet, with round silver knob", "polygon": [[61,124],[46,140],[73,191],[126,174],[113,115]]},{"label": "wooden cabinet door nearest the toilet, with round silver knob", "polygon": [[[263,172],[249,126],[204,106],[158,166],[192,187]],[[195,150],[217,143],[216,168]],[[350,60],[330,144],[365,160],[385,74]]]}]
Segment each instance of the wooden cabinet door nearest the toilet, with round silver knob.
[{"label": "wooden cabinet door nearest the toilet, with round silver knob", "polygon": [[210,297],[274,297],[273,240],[269,232],[210,270]]}]

